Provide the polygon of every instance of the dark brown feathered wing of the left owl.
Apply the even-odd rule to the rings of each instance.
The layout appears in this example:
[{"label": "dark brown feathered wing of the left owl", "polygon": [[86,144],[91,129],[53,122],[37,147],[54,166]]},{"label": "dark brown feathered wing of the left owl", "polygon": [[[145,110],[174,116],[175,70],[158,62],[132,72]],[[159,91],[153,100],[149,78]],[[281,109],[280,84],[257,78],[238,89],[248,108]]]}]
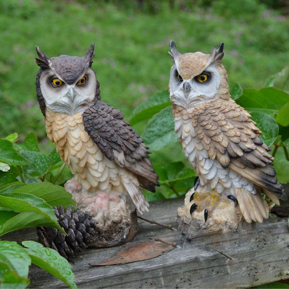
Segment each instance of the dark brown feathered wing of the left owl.
[{"label": "dark brown feathered wing of the left owl", "polygon": [[109,160],[114,160],[134,173],[140,186],[155,192],[155,186],[160,184],[158,175],[148,160],[148,147],[124,120],[123,113],[108,103],[97,100],[82,116],[86,132],[101,152]]}]

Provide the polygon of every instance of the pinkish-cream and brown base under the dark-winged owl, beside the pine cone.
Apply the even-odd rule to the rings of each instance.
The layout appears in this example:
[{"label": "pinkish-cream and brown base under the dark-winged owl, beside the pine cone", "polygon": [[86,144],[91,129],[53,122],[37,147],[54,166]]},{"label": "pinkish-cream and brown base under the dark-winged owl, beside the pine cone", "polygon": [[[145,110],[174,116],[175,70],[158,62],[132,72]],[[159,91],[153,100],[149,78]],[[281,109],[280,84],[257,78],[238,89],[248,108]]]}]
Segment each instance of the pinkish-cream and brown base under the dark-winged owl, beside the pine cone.
[{"label": "pinkish-cream and brown base under the dark-winged owl, beside the pine cone", "polygon": [[95,220],[97,233],[89,247],[115,247],[131,241],[138,232],[137,214],[127,194],[110,190],[90,192],[75,179],[65,183],[77,208],[87,211]]}]

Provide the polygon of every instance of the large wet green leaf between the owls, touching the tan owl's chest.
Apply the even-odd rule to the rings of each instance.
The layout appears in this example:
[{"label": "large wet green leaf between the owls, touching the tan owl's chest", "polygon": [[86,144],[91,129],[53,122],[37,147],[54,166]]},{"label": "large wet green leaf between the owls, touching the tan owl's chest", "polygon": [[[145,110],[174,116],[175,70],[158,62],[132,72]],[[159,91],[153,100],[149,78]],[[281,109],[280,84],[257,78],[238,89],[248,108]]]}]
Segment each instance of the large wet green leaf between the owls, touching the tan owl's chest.
[{"label": "large wet green leaf between the owls, touching the tan owl's chest", "polygon": [[152,151],[158,151],[167,144],[178,141],[174,127],[172,108],[164,108],[151,118],[144,128],[142,139]]}]

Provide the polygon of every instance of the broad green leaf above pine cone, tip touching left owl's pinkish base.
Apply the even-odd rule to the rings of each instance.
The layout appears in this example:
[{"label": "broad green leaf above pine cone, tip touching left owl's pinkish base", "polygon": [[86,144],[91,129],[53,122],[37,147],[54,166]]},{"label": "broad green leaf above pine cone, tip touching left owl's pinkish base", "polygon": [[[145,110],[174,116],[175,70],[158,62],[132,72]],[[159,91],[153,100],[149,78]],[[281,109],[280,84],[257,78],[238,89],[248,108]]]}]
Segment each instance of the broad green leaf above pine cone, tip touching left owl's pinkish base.
[{"label": "broad green leaf above pine cone, tip touching left owl's pinkish base", "polygon": [[[7,190],[9,190],[9,187],[7,188]],[[62,205],[64,209],[66,209],[70,205],[75,206],[75,201],[71,199],[71,193],[66,192],[66,190],[61,186],[55,186],[48,182],[21,186],[20,188],[13,189],[13,191],[11,192],[33,194],[36,197],[44,199],[47,204],[51,206],[59,207],[60,205]]]}]

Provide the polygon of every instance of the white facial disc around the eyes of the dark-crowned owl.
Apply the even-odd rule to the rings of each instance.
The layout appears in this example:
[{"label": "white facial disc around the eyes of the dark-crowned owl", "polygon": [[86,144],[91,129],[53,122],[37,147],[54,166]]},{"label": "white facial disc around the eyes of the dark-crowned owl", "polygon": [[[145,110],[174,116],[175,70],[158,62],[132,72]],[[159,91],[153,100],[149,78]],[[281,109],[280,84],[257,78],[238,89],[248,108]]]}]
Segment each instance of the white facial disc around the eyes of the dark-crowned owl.
[{"label": "white facial disc around the eyes of the dark-crowned owl", "polygon": [[[86,84],[78,85],[77,81],[85,77]],[[63,81],[61,86],[53,86],[53,79]],[[97,80],[91,68],[79,77],[79,79],[68,85],[52,70],[47,69],[40,76],[40,89],[45,100],[45,105],[52,111],[75,114],[84,112],[95,100]]]}]

